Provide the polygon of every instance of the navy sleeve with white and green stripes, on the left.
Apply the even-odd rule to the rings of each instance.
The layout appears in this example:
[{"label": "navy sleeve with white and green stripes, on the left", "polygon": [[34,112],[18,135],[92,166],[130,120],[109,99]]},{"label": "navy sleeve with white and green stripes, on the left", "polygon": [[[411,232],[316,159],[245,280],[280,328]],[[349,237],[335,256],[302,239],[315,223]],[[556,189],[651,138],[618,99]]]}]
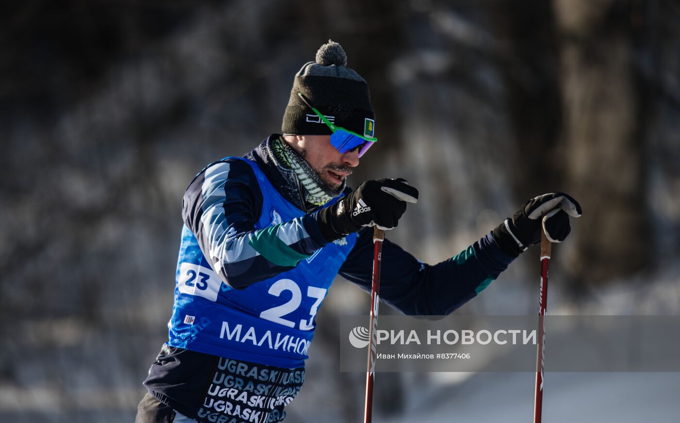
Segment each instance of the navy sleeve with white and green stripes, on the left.
[{"label": "navy sleeve with white and green stripes, on the left", "polygon": [[207,262],[232,288],[243,289],[290,270],[325,244],[315,217],[256,230],[261,212],[260,185],[242,160],[207,166],[184,193],[184,224]]}]

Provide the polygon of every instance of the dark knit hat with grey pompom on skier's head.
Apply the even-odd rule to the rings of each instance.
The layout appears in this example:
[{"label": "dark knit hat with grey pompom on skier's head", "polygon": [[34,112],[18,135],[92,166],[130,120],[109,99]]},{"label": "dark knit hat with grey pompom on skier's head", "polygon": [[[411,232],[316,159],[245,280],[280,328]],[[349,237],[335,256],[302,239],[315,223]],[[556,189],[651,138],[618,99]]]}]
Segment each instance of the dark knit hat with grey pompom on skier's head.
[{"label": "dark knit hat with grey pompom on skier's head", "polygon": [[366,119],[375,119],[369,84],[347,67],[347,54],[339,43],[328,40],[295,75],[281,130],[284,134],[330,135],[330,128],[297,95],[330,122],[364,134]]}]

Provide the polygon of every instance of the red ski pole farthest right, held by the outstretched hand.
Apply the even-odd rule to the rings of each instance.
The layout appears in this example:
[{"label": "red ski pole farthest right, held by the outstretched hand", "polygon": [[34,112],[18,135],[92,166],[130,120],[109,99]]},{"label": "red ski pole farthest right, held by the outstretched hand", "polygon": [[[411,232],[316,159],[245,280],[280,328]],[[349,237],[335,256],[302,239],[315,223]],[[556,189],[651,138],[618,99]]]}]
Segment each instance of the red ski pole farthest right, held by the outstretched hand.
[{"label": "red ski pole farthest right, held by the outstretched hand", "polygon": [[541,225],[541,292],[539,297],[539,343],[536,358],[536,390],[534,391],[534,423],[541,423],[543,409],[543,359],[545,358],[545,306],[548,297],[548,261],[551,244]]}]

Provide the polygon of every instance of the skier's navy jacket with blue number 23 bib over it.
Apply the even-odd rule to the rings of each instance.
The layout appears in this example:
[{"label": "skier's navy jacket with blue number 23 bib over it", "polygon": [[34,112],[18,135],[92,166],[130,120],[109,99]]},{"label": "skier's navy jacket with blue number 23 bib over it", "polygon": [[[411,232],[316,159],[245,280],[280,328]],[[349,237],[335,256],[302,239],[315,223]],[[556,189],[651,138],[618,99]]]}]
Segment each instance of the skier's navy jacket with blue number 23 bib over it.
[{"label": "skier's navy jacket with blue number 23 bib over it", "polygon": [[[210,164],[184,194],[167,343],[175,348],[174,358],[153,365],[145,381],[156,398],[175,409],[181,409],[177,401],[190,402],[186,396],[205,385],[209,363],[219,356],[303,367],[314,315],[336,274],[371,290],[373,228],[327,245],[317,222],[319,208],[305,203],[296,175],[269,148],[278,136],[243,158]],[[435,265],[388,239],[382,248],[380,298],[413,316],[451,313],[513,260],[491,234]]]}]

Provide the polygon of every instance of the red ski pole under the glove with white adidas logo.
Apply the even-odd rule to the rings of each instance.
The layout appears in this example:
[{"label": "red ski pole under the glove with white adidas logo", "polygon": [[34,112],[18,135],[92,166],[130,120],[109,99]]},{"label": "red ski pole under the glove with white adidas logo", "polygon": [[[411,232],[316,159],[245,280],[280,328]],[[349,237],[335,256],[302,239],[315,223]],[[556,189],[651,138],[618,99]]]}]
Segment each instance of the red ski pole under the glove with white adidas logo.
[{"label": "red ski pole under the glove with white adidas logo", "polygon": [[371,320],[369,323],[369,363],[366,371],[366,406],[364,407],[364,423],[371,423],[373,415],[373,378],[375,373],[375,358],[377,350],[378,329],[378,296],[380,289],[380,262],[382,259],[382,242],[385,239],[385,231],[378,229],[373,231],[373,284],[371,285]]}]

